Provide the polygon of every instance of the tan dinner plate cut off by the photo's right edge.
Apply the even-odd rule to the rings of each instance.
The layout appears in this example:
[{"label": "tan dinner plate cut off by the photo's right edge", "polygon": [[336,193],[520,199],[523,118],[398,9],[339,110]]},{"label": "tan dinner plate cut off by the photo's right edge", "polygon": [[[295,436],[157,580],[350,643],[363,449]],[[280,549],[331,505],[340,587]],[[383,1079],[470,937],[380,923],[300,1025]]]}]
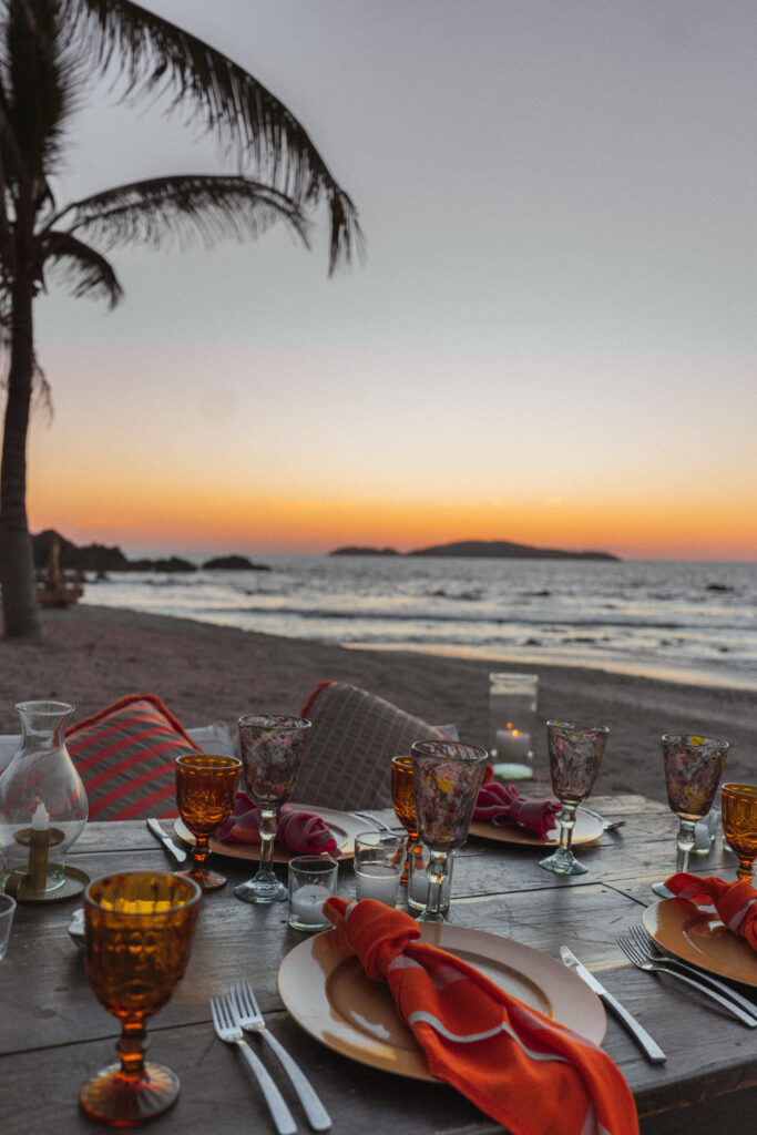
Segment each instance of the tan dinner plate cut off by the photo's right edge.
[{"label": "tan dinner plate cut off by the photo's right edge", "polygon": [[688,899],[663,899],[647,907],[641,922],[665,953],[757,987],[757,953],[723,925],[714,907],[695,907]]}]

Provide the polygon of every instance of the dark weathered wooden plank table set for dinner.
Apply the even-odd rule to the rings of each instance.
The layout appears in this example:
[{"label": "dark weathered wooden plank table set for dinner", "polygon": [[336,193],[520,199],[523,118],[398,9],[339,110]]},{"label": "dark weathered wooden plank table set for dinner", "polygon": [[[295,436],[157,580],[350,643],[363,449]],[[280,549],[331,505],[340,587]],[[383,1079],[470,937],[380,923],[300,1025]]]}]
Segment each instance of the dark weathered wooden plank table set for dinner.
[{"label": "dark weathered wooden plank table set for dinner", "polygon": [[[675,818],[641,797],[596,798],[596,808],[628,823],[581,849],[589,874],[561,880],[537,867],[538,851],[471,840],[459,852],[449,920],[514,938],[558,957],[570,945],[667,1052],[653,1066],[611,1016],[606,1051],[625,1075],[645,1135],[709,1135],[754,1129],[757,1104],[757,1029],[748,1029],[683,985],[632,968],[615,938],[655,901],[653,881],[671,873]],[[386,814],[385,814],[386,815]],[[144,823],[93,823],[69,860],[96,877],[113,871],[170,869]],[[268,1023],[312,1078],[334,1118],[334,1130],[371,1135],[409,1130],[502,1130],[445,1084],[378,1071],[322,1046],[283,1011],[276,991],[281,958],[303,935],[288,927],[286,903],[239,902],[232,885],[250,865],[224,860],[229,885],[203,899],[192,958],[169,1004],[149,1026],[150,1056],[180,1077],[176,1105],[150,1125],[155,1135],[213,1135],[274,1126],[246,1065],[216,1040],[209,998],[232,980],[252,982]],[[734,876],[734,859],[717,849],[697,858],[706,874]],[[350,864],[339,893],[352,897]],[[96,1129],[78,1110],[82,1082],[115,1059],[116,1020],[92,994],[82,952],[67,925],[79,905],[18,907],[10,947],[0,962],[0,1099],[2,1135]],[[757,1004],[757,990],[755,1003]],[[252,1039],[254,1041],[254,1039]],[[300,1130],[309,1127],[276,1061],[263,1053],[292,1102]],[[750,1118],[751,1117],[751,1118]]]}]

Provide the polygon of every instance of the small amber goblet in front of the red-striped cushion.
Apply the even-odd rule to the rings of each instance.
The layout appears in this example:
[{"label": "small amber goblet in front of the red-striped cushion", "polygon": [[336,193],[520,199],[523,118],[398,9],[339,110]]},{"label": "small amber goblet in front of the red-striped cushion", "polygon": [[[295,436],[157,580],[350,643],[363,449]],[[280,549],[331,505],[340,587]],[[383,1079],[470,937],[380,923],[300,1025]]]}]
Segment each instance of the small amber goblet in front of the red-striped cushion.
[{"label": "small amber goblet in front of the red-striped cushion", "polygon": [[197,753],[177,757],[175,767],[176,804],[194,835],[192,866],[176,874],[193,878],[203,891],[213,891],[224,886],[226,875],[208,867],[208,840],[232,815],[242,762]]}]

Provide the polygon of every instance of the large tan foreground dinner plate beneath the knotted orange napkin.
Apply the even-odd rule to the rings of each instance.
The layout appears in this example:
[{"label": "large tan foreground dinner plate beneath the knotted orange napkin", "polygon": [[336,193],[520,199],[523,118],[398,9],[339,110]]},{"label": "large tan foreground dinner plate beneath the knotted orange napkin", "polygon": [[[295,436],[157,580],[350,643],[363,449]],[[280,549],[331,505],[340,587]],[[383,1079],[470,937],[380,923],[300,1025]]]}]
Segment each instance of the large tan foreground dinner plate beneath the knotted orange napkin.
[{"label": "large tan foreground dinner plate beneath the knotted orange napkin", "polygon": [[[599,1044],[607,1018],[596,993],[554,958],[512,939],[447,923],[419,923],[421,939],[468,961],[545,1016]],[[413,1079],[434,1079],[387,985],[372,982],[342,930],[296,945],[281,961],[278,991],[317,1041],[360,1063]]]}]

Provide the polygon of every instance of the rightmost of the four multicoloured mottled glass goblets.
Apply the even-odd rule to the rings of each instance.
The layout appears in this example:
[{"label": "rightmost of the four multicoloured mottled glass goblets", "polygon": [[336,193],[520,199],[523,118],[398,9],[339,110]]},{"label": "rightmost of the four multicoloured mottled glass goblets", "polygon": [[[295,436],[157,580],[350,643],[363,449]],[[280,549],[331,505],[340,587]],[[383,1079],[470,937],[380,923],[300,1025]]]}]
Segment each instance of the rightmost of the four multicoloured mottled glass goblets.
[{"label": "rightmost of the four multicoloured mottled glass goblets", "polygon": [[[679,817],[676,874],[689,869],[695,846],[695,827],[710,809],[720,783],[729,742],[696,734],[666,733],[662,739],[667,802]],[[672,898],[664,883],[655,883],[655,894]]]}]

